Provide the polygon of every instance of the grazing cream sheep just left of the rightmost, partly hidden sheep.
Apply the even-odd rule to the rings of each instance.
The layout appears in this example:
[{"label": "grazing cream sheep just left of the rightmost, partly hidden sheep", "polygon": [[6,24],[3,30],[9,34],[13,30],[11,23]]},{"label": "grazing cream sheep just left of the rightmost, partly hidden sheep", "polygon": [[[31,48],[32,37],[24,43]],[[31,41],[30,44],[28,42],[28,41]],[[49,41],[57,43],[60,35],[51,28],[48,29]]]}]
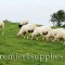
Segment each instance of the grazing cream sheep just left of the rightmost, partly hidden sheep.
[{"label": "grazing cream sheep just left of the rightmost, partly hidden sheep", "polygon": [[51,29],[49,31],[49,34],[46,36],[46,39],[53,41],[54,37],[62,30],[64,30],[64,29],[63,28]]}]

